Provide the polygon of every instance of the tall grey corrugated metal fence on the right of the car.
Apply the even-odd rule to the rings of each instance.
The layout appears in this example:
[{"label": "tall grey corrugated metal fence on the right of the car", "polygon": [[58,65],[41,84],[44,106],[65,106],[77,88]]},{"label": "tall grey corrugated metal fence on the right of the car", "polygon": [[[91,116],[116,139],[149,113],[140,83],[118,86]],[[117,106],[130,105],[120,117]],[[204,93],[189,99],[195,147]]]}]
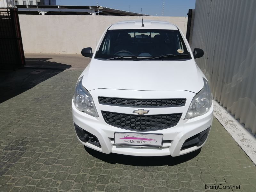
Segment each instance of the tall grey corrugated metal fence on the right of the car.
[{"label": "tall grey corrugated metal fence on the right of the car", "polygon": [[196,0],[192,50],[212,95],[256,133],[256,1]]}]

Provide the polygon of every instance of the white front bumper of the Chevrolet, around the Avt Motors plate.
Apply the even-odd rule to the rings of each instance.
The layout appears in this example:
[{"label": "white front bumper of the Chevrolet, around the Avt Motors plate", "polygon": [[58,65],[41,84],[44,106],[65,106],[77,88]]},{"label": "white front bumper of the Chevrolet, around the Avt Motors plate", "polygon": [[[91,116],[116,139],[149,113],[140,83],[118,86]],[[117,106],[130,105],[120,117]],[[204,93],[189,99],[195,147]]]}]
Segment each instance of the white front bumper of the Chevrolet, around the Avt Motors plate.
[{"label": "white front bumper of the Chevrolet, around the Avt Motors plate", "polygon": [[[184,142],[192,136],[203,132],[212,125],[213,118],[213,104],[206,114],[197,116],[191,119],[180,119],[179,123],[171,128],[148,131],[143,133],[162,133],[163,134],[163,146],[161,147],[144,147],[144,146],[128,146],[128,145],[116,145],[114,144],[115,132],[133,132],[124,130],[111,125],[108,125],[104,121],[101,121],[99,117],[93,117],[77,110],[72,102],[72,114],[74,123],[86,132],[91,133],[97,137],[100,146],[95,146],[90,142],[83,142],[79,138],[78,140],[85,146],[95,149],[103,153],[118,153],[123,155],[132,156],[179,156],[201,148],[200,146],[193,146],[189,148],[182,148]],[[142,132],[139,132],[142,133]],[[208,136],[208,135],[207,135]]]}]

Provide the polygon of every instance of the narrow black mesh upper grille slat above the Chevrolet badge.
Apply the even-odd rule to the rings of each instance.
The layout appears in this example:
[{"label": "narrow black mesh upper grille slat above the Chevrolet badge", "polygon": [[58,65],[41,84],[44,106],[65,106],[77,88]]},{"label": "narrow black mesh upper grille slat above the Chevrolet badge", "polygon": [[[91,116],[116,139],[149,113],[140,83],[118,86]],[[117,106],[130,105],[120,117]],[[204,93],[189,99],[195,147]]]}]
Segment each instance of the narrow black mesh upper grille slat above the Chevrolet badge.
[{"label": "narrow black mesh upper grille slat above the Chevrolet badge", "polygon": [[116,97],[98,97],[103,105],[115,105],[123,107],[181,107],[185,106],[186,99],[127,99]]}]

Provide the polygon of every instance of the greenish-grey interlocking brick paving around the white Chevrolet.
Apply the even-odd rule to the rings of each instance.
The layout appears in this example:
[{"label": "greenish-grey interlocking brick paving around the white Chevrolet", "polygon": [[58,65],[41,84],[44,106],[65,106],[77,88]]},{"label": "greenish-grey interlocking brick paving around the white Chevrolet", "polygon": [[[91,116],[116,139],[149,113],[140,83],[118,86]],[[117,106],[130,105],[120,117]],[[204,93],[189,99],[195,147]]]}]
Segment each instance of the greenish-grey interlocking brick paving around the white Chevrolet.
[{"label": "greenish-grey interlocking brick paving around the white Chevrolet", "polygon": [[71,116],[80,73],[65,70],[0,104],[0,191],[256,191],[255,165],[215,118],[205,146],[187,156],[85,150]]}]

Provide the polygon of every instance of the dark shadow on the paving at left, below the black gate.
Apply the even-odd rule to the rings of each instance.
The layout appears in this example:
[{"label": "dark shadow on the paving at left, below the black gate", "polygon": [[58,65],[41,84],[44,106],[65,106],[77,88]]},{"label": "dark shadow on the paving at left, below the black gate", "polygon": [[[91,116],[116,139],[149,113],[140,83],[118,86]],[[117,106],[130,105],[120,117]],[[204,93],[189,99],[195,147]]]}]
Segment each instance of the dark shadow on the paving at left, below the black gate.
[{"label": "dark shadow on the paving at left, below the black gate", "polygon": [[[27,59],[30,59],[29,67],[27,67]],[[37,61],[32,61],[33,59]],[[49,60],[49,58],[26,58],[26,66],[24,68],[0,70],[0,103],[71,67],[71,65],[62,63],[44,62],[46,60]]]}]

